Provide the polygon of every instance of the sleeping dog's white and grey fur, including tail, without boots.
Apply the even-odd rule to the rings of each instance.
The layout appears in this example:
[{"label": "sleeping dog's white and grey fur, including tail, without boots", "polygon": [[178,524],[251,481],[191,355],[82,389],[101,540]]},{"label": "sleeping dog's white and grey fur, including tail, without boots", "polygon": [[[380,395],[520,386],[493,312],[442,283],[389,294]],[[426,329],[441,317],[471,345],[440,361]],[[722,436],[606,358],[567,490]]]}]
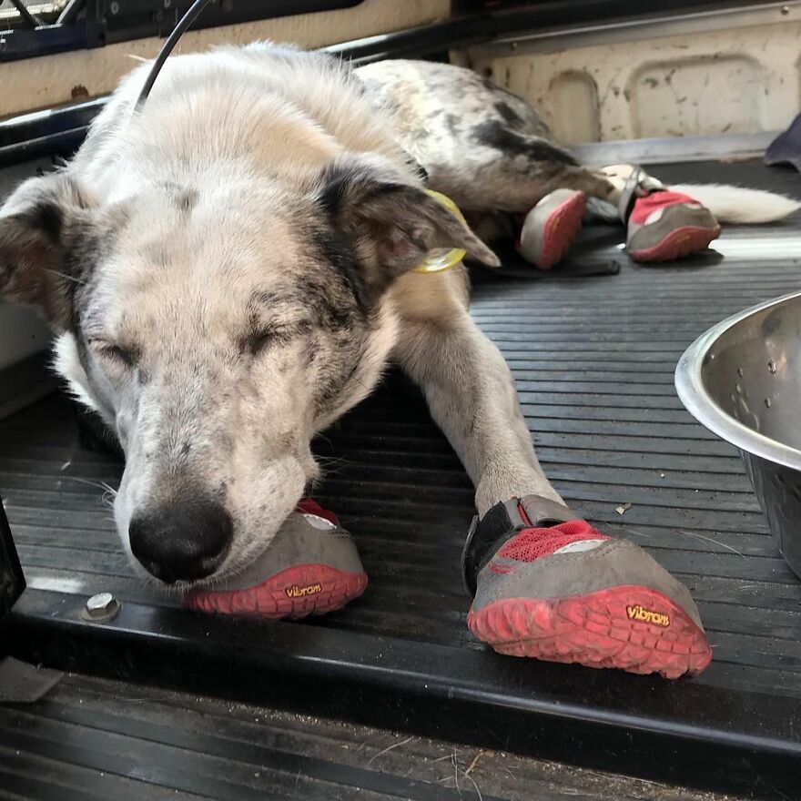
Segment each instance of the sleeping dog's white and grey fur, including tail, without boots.
[{"label": "sleeping dog's white and grey fur, including tail, without boots", "polygon": [[[479,512],[559,500],[510,372],[468,315],[464,269],[411,271],[441,247],[497,264],[422,191],[421,167],[485,238],[554,188],[614,202],[613,184],[520,98],[454,66],[354,73],[288,46],[220,48],[168,59],[135,113],[148,69],[121,83],[66,167],[0,210],[0,294],[49,321],[57,370],[116,431],[117,529],[143,577],[160,573],[133,558],[132,521],[191,549],[210,507],[227,541],[165,580],[245,570],[318,476],[309,442],[389,360],[421,385]],[[693,193],[738,220],[796,208]]]}]

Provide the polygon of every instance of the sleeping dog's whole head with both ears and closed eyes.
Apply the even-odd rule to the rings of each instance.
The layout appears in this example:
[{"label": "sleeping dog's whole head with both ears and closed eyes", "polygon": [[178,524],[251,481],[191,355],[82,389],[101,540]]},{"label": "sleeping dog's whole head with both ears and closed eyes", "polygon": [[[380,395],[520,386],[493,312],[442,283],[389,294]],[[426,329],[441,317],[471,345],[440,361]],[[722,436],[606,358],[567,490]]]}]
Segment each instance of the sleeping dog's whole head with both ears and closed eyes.
[{"label": "sleeping dog's whole head with both ears and closed eyes", "polygon": [[61,371],[117,432],[115,516],[135,564],[209,583],[246,568],[294,509],[317,474],[312,437],[380,376],[387,290],[441,247],[497,263],[363,158],[291,193],[227,167],[115,202],[67,168],[0,212],[0,294],[61,334]]}]

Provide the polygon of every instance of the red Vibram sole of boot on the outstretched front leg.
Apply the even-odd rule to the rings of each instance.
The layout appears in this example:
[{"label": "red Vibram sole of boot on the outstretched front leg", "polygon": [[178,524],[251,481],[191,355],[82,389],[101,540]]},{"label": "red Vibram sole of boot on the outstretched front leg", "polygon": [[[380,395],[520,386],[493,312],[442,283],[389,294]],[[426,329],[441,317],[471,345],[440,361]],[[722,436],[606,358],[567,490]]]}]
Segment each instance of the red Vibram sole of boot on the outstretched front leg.
[{"label": "red Vibram sole of boot on the outstretched front leg", "polygon": [[507,598],[467,615],[472,634],[499,654],[616,667],[674,679],[712,660],[706,634],[681,606],[644,586],[570,598]]}]

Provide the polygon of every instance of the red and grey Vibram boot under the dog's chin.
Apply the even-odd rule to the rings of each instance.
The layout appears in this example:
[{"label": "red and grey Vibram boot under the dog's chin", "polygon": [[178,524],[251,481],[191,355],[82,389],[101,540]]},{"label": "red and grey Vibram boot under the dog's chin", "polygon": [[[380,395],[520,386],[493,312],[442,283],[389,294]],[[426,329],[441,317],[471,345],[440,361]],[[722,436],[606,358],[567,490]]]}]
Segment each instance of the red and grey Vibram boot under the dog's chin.
[{"label": "red and grey Vibram boot under the dog's chin", "polygon": [[187,593],[184,604],[201,612],[297,619],[341,609],[365,587],[353,538],[333,512],[305,498],[245,573],[214,590]]}]

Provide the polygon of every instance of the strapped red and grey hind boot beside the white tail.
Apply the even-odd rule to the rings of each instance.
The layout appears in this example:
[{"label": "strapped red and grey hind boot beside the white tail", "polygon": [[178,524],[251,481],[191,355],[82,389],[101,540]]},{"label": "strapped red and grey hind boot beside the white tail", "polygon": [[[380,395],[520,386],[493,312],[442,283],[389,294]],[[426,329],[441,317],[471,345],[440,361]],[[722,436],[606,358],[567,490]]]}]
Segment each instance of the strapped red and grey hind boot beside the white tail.
[{"label": "strapped red and grey hind boot beside the white tail", "polygon": [[704,250],[720,236],[712,212],[695,198],[665,188],[641,167],[606,167],[602,172],[624,180],[618,206],[626,224],[626,251],[634,261],[669,261]]}]

